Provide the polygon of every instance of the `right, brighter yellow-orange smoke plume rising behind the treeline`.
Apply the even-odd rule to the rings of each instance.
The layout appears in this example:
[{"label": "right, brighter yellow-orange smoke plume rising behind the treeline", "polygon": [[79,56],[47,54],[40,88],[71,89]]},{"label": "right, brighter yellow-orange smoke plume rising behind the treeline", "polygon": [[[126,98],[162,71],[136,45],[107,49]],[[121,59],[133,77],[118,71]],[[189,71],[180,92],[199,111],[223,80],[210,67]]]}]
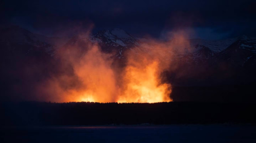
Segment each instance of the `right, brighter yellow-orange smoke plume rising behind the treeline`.
[{"label": "right, brighter yellow-orange smoke plume rising behind the treeline", "polygon": [[170,99],[171,85],[161,83],[161,72],[167,68],[150,55],[129,55],[123,73],[122,94],[118,102],[163,102]]}]

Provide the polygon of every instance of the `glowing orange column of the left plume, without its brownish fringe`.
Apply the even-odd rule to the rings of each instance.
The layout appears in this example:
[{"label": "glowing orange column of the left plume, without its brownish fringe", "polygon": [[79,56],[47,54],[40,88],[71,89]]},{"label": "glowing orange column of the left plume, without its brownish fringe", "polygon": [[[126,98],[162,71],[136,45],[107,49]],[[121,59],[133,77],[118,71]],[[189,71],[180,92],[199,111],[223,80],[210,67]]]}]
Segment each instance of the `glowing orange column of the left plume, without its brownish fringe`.
[{"label": "glowing orange column of the left plume, without its brownish fringe", "polygon": [[64,101],[116,101],[118,87],[112,62],[110,55],[101,53],[97,45],[92,46],[78,62],[72,63],[82,87],[68,91]]}]

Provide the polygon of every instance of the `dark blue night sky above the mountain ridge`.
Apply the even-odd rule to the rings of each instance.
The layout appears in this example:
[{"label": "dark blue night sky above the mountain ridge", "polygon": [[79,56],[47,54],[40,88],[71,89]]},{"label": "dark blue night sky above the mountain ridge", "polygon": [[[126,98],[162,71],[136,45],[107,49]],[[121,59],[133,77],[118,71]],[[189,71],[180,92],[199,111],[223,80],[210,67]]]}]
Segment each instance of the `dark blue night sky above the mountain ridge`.
[{"label": "dark blue night sky above the mountain ridge", "polygon": [[1,24],[34,33],[70,36],[120,28],[137,36],[165,38],[186,31],[190,38],[255,36],[255,0],[3,0]]}]

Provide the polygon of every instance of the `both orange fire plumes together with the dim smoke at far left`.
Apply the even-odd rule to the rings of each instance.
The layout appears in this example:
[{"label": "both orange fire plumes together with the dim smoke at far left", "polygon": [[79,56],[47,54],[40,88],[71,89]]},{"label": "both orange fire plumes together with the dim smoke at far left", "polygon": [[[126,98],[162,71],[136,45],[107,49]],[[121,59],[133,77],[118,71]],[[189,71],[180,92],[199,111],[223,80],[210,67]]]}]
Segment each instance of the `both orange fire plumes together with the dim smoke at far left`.
[{"label": "both orange fire plumes together with the dim smoke at far left", "polygon": [[[113,68],[113,59],[93,46],[82,58],[62,54],[72,65],[75,76],[61,75],[53,78],[47,90],[54,95],[51,101],[85,101],[118,103],[155,103],[172,101],[171,85],[161,82],[163,67],[161,60],[147,55],[128,55],[127,65]],[[68,60],[67,60],[68,59]],[[118,71],[118,72],[117,72]],[[50,95],[50,94],[49,94]]]}]

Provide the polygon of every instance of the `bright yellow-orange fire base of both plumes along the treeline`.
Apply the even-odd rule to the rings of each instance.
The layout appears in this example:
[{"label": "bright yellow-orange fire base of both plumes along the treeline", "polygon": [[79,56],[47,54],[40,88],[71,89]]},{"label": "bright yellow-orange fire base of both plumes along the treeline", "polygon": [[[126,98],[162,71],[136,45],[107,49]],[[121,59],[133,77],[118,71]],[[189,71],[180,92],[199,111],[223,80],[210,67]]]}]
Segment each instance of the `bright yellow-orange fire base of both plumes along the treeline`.
[{"label": "bright yellow-orange fire base of both plumes along the treeline", "polygon": [[[170,99],[170,84],[160,84],[160,79],[157,75],[158,66],[158,62],[153,62],[144,68],[141,66],[138,66],[140,68],[127,66],[123,79],[125,83],[123,88],[113,88],[112,82],[92,83],[89,85],[90,89],[82,92],[73,92],[72,97],[75,97],[73,99],[79,102],[103,103],[155,103],[172,101]],[[116,90],[116,92],[112,92],[112,90]],[[103,96],[99,96],[99,94]]]}]

